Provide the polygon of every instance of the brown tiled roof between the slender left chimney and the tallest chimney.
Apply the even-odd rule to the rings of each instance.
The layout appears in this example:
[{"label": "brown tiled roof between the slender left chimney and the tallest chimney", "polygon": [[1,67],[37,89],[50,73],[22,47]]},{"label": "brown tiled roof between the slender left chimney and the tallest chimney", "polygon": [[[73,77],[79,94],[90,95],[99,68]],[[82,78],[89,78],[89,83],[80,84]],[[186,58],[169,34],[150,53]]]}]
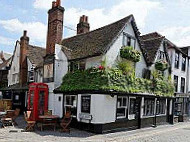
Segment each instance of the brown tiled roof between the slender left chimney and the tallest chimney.
[{"label": "brown tiled roof between the slender left chimney and the tallest chimney", "polygon": [[39,66],[43,63],[43,57],[46,55],[46,49],[38,46],[29,45],[27,57],[34,64],[34,66]]}]

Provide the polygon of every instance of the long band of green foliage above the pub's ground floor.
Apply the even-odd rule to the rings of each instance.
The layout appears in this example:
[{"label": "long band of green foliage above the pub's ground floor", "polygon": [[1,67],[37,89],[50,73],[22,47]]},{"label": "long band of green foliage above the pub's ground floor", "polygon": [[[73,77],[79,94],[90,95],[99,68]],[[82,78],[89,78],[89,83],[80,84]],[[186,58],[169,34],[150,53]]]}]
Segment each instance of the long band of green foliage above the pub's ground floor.
[{"label": "long band of green foliage above the pub's ground floor", "polygon": [[[155,73],[156,74],[156,73]],[[125,93],[152,93],[173,96],[174,85],[171,81],[154,78],[147,80],[126,75],[118,68],[90,68],[85,71],[68,73],[63,78],[62,91],[115,91]]]}]

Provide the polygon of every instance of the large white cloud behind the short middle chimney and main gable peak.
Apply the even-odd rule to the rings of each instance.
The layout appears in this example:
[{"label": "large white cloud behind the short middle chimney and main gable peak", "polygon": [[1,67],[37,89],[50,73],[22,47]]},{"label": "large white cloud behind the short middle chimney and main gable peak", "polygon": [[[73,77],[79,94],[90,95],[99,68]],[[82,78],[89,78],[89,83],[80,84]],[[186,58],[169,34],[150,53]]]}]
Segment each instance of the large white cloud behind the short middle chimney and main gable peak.
[{"label": "large white cloud behind the short middle chimney and main gable peak", "polygon": [[143,28],[149,12],[151,10],[158,10],[160,9],[159,7],[161,7],[159,2],[150,0],[122,0],[109,10],[103,8],[93,10],[69,8],[65,11],[64,22],[66,25],[76,28],[79,17],[81,15],[87,15],[89,16],[91,30],[93,30],[133,14],[137,25]]}]

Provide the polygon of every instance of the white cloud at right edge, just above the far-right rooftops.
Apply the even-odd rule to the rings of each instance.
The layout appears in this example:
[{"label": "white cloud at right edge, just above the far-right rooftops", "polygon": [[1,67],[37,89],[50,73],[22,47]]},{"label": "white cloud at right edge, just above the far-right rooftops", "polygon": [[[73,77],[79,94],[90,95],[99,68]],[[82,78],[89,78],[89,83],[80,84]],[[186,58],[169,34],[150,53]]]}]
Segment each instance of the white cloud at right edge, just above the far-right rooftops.
[{"label": "white cloud at right edge, just above the far-right rooftops", "polygon": [[190,26],[165,27],[159,31],[179,47],[190,45]]}]

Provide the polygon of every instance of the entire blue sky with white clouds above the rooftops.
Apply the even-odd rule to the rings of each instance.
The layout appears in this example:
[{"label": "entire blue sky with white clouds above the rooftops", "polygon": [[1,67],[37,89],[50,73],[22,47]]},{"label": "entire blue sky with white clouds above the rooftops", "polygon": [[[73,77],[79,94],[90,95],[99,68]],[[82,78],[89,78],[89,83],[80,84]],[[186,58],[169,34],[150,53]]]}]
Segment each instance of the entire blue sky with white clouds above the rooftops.
[{"label": "entire blue sky with white clouds above the rooftops", "polygon": [[[53,0],[0,0],[0,50],[12,53],[28,30],[30,44],[45,47],[47,11]],[[64,25],[76,29],[89,16],[91,30],[133,14],[142,34],[158,31],[178,46],[190,45],[189,0],[62,0]],[[64,37],[76,32],[64,29]]]}]

